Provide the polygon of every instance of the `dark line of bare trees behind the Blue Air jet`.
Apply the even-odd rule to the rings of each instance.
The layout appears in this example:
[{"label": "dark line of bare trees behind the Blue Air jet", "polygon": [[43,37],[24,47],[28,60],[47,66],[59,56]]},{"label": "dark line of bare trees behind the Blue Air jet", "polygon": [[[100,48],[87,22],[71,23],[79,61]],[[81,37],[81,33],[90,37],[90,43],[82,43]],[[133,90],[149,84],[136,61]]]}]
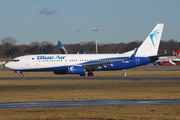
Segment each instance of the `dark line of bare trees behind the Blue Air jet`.
[{"label": "dark line of bare trees behind the Blue Air jet", "polygon": [[[63,42],[63,41],[62,41]],[[31,42],[29,45],[16,45],[17,40],[13,37],[5,37],[1,39],[0,56],[6,58],[13,58],[26,54],[58,54],[59,46],[51,42]],[[108,43],[98,44],[98,53],[123,53],[141,45],[142,41],[132,41],[129,43]],[[77,44],[64,44],[69,54],[84,53],[92,54],[96,52],[96,45],[94,41],[80,42]],[[180,42],[170,39],[161,41],[159,54],[167,52],[172,53],[173,50],[180,49]]]}]

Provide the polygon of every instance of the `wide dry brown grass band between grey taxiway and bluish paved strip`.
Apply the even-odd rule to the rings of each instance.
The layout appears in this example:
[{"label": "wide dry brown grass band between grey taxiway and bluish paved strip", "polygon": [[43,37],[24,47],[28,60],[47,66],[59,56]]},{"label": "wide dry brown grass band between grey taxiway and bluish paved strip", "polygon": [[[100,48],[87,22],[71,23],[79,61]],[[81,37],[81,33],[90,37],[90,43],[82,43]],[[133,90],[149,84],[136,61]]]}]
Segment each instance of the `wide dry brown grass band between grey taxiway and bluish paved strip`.
[{"label": "wide dry brown grass band between grey taxiway and bluish paved strip", "polygon": [[1,80],[1,102],[180,99],[179,80]]}]

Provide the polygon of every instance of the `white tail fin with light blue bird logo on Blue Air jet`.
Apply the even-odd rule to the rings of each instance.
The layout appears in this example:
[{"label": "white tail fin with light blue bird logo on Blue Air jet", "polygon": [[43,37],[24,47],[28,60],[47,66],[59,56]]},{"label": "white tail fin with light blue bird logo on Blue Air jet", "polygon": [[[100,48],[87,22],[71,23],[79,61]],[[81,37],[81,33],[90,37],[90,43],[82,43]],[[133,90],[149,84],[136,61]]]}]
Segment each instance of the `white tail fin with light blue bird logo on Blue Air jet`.
[{"label": "white tail fin with light blue bird logo on Blue Air jet", "polygon": [[157,55],[164,24],[159,23],[138,48],[137,55]]}]

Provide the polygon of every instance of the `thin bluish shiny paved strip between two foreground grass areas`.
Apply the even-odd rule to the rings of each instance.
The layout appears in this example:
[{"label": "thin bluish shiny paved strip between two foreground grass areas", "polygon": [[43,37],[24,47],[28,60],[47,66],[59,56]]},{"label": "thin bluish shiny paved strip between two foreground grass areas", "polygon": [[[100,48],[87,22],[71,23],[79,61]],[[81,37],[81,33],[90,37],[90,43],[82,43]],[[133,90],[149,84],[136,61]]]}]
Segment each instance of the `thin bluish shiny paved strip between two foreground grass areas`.
[{"label": "thin bluish shiny paved strip between two foreground grass areas", "polygon": [[172,105],[172,104],[180,104],[180,100],[8,102],[8,103],[0,103],[0,108],[123,106],[123,105]]}]

